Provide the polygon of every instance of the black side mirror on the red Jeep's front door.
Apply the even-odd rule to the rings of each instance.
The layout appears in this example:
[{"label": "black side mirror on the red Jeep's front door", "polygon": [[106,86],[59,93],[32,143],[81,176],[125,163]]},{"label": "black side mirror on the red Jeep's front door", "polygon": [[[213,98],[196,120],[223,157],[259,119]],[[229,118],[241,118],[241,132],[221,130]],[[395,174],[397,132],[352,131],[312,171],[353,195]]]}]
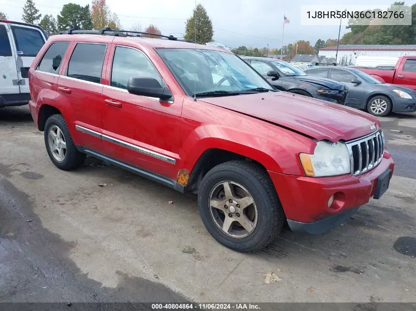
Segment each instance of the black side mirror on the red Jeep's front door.
[{"label": "black side mirror on the red Jeep's front door", "polygon": [[169,99],[173,95],[169,88],[160,85],[154,78],[130,78],[127,83],[127,90],[131,94]]}]

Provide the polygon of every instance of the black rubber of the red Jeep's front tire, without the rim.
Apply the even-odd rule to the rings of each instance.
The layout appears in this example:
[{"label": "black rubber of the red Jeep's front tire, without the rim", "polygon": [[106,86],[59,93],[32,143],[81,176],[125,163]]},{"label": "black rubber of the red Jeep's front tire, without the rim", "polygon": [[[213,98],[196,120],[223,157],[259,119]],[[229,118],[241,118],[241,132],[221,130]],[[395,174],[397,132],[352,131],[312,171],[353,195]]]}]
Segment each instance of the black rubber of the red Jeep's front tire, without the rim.
[{"label": "black rubber of the red Jeep's front tire, without the rim", "polygon": [[[255,230],[247,237],[230,237],[212,220],[209,211],[210,192],[215,185],[226,180],[241,184],[248,190],[256,203],[258,215],[257,225]],[[199,213],[208,232],[224,246],[242,252],[251,252],[262,248],[265,241],[269,240],[268,237],[270,234],[275,234],[273,232],[275,231],[273,229],[273,222],[277,217],[277,211],[276,208],[270,208],[272,205],[274,205],[273,200],[261,183],[249,172],[240,168],[225,168],[222,170],[215,170],[214,168],[202,180],[198,193]]]}]

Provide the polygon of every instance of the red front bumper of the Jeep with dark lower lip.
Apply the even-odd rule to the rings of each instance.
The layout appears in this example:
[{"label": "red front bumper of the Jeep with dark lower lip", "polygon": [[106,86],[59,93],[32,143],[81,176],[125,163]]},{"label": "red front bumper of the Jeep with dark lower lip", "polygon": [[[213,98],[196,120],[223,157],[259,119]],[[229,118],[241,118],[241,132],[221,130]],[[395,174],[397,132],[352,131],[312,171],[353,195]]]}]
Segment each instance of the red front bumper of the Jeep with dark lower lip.
[{"label": "red front bumper of the Jeep with dark lower lip", "polygon": [[[293,230],[322,233],[348,219],[356,209],[374,196],[377,179],[394,162],[384,150],[380,164],[361,175],[307,177],[269,171],[288,224]],[[328,200],[334,196],[328,207]]]}]

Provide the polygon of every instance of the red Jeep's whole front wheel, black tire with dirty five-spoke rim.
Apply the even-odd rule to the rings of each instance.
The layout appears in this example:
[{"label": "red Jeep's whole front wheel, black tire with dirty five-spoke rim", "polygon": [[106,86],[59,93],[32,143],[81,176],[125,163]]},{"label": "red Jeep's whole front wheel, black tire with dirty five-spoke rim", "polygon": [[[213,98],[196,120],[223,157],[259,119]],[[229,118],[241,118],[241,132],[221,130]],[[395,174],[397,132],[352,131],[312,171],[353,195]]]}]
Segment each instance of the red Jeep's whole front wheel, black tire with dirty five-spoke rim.
[{"label": "red Jeep's whole front wheel, black tire with dirty five-spoke rim", "polygon": [[246,161],[214,167],[202,179],[198,208],[208,232],[238,252],[272,242],[286,217],[267,171]]}]

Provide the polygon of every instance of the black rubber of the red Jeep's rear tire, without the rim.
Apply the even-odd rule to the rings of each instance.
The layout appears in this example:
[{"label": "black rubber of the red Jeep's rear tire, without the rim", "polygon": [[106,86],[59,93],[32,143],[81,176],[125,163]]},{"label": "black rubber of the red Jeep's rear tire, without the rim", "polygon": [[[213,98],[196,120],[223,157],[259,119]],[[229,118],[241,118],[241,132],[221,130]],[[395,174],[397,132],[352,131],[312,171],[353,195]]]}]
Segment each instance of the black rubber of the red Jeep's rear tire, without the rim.
[{"label": "black rubber of the red Jeep's rear tire, without the rim", "polygon": [[[69,134],[68,128],[66,126],[65,123],[63,123],[63,120],[60,120],[60,118],[57,115],[52,115],[50,116],[45,123],[45,130],[44,130],[44,140],[45,140],[45,146],[46,146],[46,151],[48,152],[49,158],[51,159],[51,161],[53,162],[53,164],[62,169],[65,170],[70,166],[70,161],[71,161],[71,157],[72,157],[72,153],[76,152],[77,150],[75,149],[75,146],[72,143],[72,139],[71,136]],[[48,135],[49,135],[49,130],[52,126],[58,126],[60,128],[60,130],[62,131],[64,138],[65,138],[65,143],[66,143],[66,154],[65,154],[65,159],[63,162],[58,162],[54,156],[52,155],[52,151],[49,148],[49,141],[48,141]],[[75,149],[75,150],[74,150]]]}]

